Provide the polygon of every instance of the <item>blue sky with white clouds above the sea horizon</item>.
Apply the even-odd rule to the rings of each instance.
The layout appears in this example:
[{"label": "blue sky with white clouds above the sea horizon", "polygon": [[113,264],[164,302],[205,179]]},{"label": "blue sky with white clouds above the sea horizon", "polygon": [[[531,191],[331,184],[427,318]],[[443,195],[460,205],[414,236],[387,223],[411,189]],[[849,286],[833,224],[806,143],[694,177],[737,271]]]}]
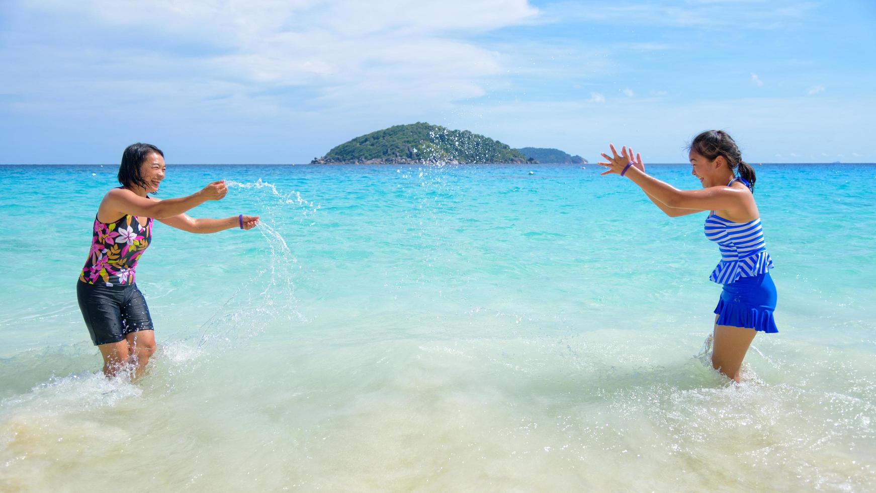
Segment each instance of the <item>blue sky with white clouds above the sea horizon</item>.
[{"label": "blue sky with white clouds above the sea horizon", "polygon": [[302,163],[392,124],[874,162],[876,2],[4,0],[0,163]]}]

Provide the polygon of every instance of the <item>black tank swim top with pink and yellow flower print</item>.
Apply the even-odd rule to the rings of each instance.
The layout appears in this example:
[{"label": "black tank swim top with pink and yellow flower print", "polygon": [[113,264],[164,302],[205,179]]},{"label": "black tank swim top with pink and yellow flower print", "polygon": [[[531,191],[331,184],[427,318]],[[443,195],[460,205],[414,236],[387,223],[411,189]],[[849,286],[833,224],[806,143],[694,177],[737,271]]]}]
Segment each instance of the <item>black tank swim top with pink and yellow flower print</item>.
[{"label": "black tank swim top with pink and yellow flower print", "polygon": [[136,215],[125,215],[109,223],[98,221],[95,215],[91,250],[79,280],[88,284],[134,284],[134,268],[151,241],[151,217],[144,226]]}]

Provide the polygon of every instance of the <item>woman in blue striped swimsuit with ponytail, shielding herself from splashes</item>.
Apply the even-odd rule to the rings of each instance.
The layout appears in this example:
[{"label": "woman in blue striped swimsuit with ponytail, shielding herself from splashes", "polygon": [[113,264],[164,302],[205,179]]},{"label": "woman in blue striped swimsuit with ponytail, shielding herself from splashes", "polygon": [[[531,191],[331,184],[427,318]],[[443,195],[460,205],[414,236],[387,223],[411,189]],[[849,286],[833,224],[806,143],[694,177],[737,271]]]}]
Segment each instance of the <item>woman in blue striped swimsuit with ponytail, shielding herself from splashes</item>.
[{"label": "woman in blue striped swimsuit with ponytail, shielding herself from splashes", "polygon": [[704,131],[690,144],[691,173],[703,183],[702,190],[679,190],[649,176],[632,149],[624,147],[618,154],[611,145],[611,154],[602,154],[608,162],[599,164],[609,168],[602,174],[629,178],[668,216],[709,211],[705,234],[721,251],[710,280],[724,285],[715,308],[712,366],[738,382],[754,335],[778,332],[775,285],[769,275],[773,261],[754,203],[754,170],[723,130]]}]

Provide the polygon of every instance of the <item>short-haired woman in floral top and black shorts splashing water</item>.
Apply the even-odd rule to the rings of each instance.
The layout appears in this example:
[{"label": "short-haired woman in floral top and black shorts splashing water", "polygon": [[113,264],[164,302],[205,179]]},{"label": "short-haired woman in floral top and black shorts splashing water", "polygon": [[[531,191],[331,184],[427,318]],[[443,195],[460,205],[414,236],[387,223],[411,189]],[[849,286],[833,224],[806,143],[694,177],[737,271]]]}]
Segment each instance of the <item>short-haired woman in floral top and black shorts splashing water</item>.
[{"label": "short-haired woman in floral top and black shorts splashing water", "polygon": [[91,341],[101,350],[103,373],[109,377],[120,371],[132,371],[134,378],[139,377],[155,352],[152,318],[134,282],[137,262],[152,242],[152,219],[191,233],[252,229],[258,224],[258,215],[189,217],[188,209],[225,196],[225,180],[214,181],[186,197],[164,201],[150,197],[164,177],[164,153],[158,147],[138,143],[124,150],[118,170],[122,187],[103,196],[88,259],[76,283],[82,317]]}]

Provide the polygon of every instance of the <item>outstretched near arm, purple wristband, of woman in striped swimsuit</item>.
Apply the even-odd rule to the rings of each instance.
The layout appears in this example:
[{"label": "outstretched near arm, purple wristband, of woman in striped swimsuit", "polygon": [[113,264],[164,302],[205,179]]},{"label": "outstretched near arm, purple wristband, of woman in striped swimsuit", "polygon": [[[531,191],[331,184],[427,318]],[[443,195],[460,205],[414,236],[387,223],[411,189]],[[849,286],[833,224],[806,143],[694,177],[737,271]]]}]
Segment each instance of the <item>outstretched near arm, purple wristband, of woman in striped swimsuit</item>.
[{"label": "outstretched near arm, purple wristband, of woman in striped swimsuit", "polygon": [[[602,154],[604,158],[608,159],[607,163],[598,163],[609,168],[602,174],[624,173],[626,178],[629,178],[633,183],[641,187],[646,194],[663,202],[670,208],[694,209],[696,211],[737,209],[743,208],[745,201],[752,199],[751,194],[744,188],[709,187],[701,190],[679,190],[666,182],[657,180],[653,176],[640,171],[636,166],[629,166],[627,168],[626,164],[631,159],[626,155],[626,146],[618,154],[618,151],[614,149],[614,145],[611,144],[611,153],[613,156],[605,153]],[[624,172],[625,168],[626,172]]]}]

